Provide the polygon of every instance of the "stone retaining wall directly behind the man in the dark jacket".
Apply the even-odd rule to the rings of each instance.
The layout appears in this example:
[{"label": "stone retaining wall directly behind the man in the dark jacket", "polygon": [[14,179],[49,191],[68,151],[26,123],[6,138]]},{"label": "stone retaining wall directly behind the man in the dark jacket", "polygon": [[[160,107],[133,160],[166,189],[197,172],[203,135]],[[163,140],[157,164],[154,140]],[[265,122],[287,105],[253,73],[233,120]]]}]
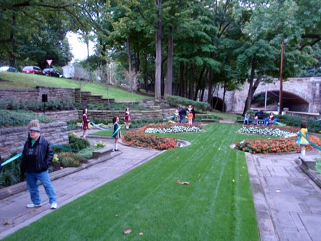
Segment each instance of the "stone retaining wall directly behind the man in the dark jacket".
[{"label": "stone retaining wall directly behind the man in the dark jacket", "polygon": [[[2,158],[9,158],[11,153],[20,153],[24,148],[28,132],[26,126],[14,128],[0,128],[0,154]],[[51,143],[61,145],[68,143],[66,122],[41,124],[41,135]]]}]

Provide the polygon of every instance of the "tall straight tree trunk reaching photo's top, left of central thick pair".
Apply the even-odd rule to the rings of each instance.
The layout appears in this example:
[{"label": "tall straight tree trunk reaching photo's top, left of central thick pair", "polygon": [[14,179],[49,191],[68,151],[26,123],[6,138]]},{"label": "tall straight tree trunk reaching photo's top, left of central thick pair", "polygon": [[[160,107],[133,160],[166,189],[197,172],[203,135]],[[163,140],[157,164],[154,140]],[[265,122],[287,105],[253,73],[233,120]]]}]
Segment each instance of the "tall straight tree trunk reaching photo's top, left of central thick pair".
[{"label": "tall straight tree trunk reaching photo's top, left of central thick pair", "polygon": [[155,98],[161,100],[161,71],[162,71],[162,21],[161,0],[157,4],[157,30],[156,30],[156,71],[155,71]]}]

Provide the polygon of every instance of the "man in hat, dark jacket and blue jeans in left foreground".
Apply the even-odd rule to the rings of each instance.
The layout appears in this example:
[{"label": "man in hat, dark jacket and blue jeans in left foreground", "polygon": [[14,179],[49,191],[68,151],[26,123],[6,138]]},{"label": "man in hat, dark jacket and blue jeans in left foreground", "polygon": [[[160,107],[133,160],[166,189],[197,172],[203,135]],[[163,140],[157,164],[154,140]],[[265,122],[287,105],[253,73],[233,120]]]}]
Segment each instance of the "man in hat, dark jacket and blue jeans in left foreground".
[{"label": "man in hat, dark jacket and blue jeans in left foreground", "polygon": [[41,207],[41,197],[39,194],[39,181],[44,185],[44,189],[49,198],[51,209],[58,207],[56,193],[49,178],[48,168],[54,158],[54,150],[46,138],[40,135],[41,128],[39,120],[29,122],[29,138],[24,144],[21,156],[21,175],[26,173],[26,185],[30,193],[32,203],[26,207]]}]

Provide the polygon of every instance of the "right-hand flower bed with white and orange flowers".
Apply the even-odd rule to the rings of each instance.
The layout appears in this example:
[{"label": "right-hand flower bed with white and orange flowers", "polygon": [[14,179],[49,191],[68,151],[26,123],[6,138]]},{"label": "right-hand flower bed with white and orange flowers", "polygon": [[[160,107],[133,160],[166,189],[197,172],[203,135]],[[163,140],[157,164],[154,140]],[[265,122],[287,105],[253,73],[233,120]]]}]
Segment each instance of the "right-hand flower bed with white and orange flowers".
[{"label": "right-hand flower bed with white and orange flowers", "polygon": [[[253,130],[253,134],[258,134],[256,131],[256,128],[249,127],[248,130],[244,130],[243,133],[248,133],[250,134],[250,130]],[[241,129],[241,130],[242,130]],[[295,144],[295,141],[297,140],[297,133],[290,133],[290,131],[287,133],[287,130],[291,130],[291,128],[283,128],[281,131],[280,128],[269,128],[270,130],[264,130],[262,129],[259,134],[265,135],[263,133],[270,133],[270,135],[273,136],[285,136],[281,138],[276,138],[276,139],[265,139],[265,140],[243,140],[240,143],[235,143],[235,149],[237,150],[243,150],[248,153],[290,153],[290,152],[299,152],[300,147],[299,145]],[[277,130],[279,129],[279,130]],[[298,128],[292,128],[293,131],[297,131]],[[245,132],[244,132],[245,131]],[[240,132],[240,130],[239,130]],[[240,132],[241,133],[241,132]],[[278,135],[275,135],[275,133],[278,133]],[[294,135],[293,135],[294,134]],[[266,134],[267,135],[267,134]],[[291,136],[291,137],[289,137]],[[309,135],[310,141],[312,143],[315,143],[315,145],[320,146],[321,145],[321,140],[315,135]],[[312,145],[307,145],[305,147],[305,150],[312,150],[314,147]]]}]

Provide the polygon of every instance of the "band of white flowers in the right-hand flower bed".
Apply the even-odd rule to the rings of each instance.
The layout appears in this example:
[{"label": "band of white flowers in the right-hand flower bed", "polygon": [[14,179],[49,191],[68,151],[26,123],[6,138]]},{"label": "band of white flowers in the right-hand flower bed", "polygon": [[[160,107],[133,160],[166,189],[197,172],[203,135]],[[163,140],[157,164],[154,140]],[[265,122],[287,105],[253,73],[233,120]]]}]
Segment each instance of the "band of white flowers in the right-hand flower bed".
[{"label": "band of white flowers in the right-hand flower bed", "polygon": [[238,132],[243,134],[271,135],[284,138],[297,136],[297,133],[280,130],[279,128],[258,128],[257,126],[243,126],[242,128],[240,128],[240,130],[238,130]]}]

